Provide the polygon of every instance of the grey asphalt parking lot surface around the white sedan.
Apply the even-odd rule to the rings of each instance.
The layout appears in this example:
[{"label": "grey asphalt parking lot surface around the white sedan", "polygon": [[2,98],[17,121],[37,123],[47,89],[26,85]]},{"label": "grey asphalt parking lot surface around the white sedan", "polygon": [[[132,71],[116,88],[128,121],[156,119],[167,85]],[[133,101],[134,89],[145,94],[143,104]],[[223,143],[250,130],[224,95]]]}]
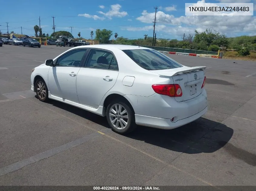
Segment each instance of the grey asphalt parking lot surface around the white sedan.
[{"label": "grey asphalt parking lot surface around the white sedan", "polygon": [[32,68],[69,48],[0,47],[0,185],[256,186],[255,62],[169,55],[208,67],[208,113],[124,136],[104,117],[30,90]]}]

